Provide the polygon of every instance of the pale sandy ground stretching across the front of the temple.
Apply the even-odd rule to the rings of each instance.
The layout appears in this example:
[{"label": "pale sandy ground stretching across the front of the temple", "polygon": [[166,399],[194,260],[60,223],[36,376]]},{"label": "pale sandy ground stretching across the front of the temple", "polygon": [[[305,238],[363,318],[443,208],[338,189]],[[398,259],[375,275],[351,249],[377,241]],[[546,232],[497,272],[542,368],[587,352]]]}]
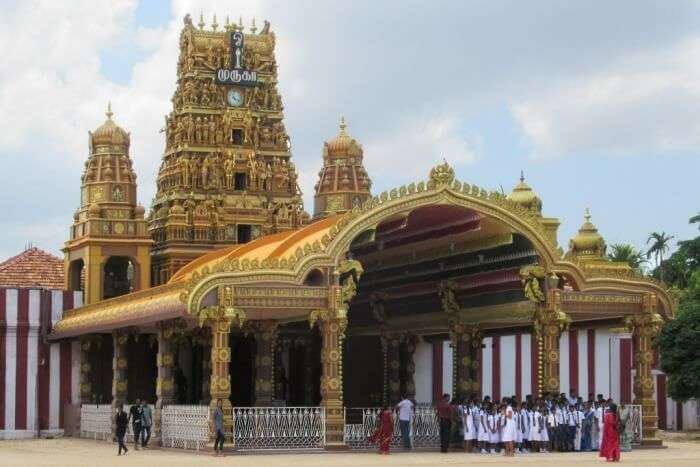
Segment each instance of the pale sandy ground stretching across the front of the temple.
[{"label": "pale sandy ground stretching across the front of the temple", "polygon": [[[671,442],[668,449],[637,450],[623,453],[626,464],[659,467],[700,465],[700,444]],[[379,456],[373,453],[322,454],[256,454],[230,453],[215,458],[211,452],[191,452],[174,449],[130,450],[126,456],[116,455],[116,445],[102,441],[79,439],[0,441],[0,466],[283,466],[283,467],[364,467],[364,466],[441,466],[441,465],[530,465],[579,467],[604,465],[595,453],[525,454],[515,458],[503,456],[433,452],[402,453]]]}]

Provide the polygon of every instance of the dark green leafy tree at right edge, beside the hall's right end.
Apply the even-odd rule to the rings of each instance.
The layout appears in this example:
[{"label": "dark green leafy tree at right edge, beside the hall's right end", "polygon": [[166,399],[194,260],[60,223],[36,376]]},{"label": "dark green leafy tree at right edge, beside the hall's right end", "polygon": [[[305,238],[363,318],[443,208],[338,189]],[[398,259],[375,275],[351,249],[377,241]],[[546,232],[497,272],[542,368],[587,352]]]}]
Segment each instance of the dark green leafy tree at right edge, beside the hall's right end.
[{"label": "dark green leafy tree at right edge, beside the hall's right end", "polygon": [[[696,240],[700,237],[696,238]],[[668,395],[675,400],[700,398],[700,269],[688,281],[678,316],[654,340],[659,364],[668,375]]]}]

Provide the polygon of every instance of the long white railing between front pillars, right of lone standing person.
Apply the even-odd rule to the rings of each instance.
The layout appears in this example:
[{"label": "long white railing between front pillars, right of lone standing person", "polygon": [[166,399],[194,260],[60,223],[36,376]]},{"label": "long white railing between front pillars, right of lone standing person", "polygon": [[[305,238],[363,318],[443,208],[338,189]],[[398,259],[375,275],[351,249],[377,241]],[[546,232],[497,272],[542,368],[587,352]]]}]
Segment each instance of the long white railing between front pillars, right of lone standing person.
[{"label": "long white railing between front pillars, right of lone standing person", "polygon": [[323,407],[234,407],[233,445],[240,450],[322,449],[326,411]]}]

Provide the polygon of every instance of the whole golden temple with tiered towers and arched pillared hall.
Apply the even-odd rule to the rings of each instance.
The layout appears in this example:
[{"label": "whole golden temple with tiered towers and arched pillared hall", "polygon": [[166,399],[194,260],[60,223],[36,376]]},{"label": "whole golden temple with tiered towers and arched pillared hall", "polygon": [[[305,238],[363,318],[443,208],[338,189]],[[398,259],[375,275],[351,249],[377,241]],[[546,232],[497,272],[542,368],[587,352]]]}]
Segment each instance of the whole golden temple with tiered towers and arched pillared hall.
[{"label": "whole golden temple with tiered towers and arched pillared hall", "polygon": [[66,287],[85,305],[50,334],[79,342],[71,403],[146,399],[163,439],[168,407],[220,399],[234,438],[237,408],[307,407],[323,414],[324,447],[343,448],[349,408],[401,394],[575,389],[641,406],[655,442],[650,345],[673,318],[668,291],[606,259],[588,213],[562,248],[559,220],[522,176],[506,196],[444,162],[373,195],[344,120],[308,215],[274,47],[268,23],[185,18],[146,217],[128,133],[111,110],[91,133],[64,250]]}]

